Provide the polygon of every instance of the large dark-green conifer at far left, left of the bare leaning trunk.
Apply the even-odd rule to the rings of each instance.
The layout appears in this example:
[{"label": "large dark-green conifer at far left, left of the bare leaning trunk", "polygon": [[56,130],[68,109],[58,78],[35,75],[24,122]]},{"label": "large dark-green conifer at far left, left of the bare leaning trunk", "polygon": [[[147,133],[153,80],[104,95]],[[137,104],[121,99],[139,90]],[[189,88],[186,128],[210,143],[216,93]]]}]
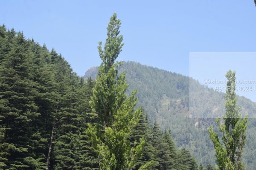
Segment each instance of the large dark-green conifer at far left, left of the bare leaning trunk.
[{"label": "large dark-green conifer at far left, left of the bare leaning trunk", "polygon": [[1,117],[4,127],[4,137],[0,144],[1,163],[5,168],[42,169],[44,158],[37,149],[38,106],[35,97],[38,91],[34,89],[35,82],[29,72],[29,42],[22,33],[7,32],[7,40],[11,43],[10,51],[2,59],[0,69],[0,101]]}]

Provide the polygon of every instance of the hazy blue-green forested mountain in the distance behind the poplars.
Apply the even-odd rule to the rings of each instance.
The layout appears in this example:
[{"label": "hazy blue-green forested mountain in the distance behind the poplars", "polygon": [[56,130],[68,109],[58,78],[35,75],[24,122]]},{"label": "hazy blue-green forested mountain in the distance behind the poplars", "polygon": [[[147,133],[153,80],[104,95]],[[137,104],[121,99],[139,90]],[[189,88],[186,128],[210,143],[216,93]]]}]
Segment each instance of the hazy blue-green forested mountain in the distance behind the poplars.
[{"label": "hazy blue-green forested mountain in the distance behind the poplars", "polygon": [[[191,77],[137,62],[125,62],[119,67],[121,72],[127,75],[127,94],[137,89],[137,107],[144,109],[151,122],[156,120],[163,130],[170,128],[177,146],[191,150],[198,163],[215,163],[215,150],[207,129],[213,125],[218,130],[215,118],[225,114],[223,93]],[[96,74],[97,68],[90,68],[84,79]],[[249,117],[243,160],[247,169],[256,169],[256,121],[250,119],[256,116],[256,103],[243,96],[238,96],[237,103],[240,113]]]}]

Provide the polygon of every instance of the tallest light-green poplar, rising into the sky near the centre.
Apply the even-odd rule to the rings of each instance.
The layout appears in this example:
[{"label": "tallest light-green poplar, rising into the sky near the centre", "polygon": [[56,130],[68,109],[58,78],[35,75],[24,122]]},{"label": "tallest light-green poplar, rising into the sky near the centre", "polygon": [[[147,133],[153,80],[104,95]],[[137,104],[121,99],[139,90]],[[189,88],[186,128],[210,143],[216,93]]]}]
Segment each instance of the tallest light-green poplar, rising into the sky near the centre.
[{"label": "tallest light-green poplar, rising into the sky near the centre", "polygon": [[121,52],[122,35],[119,35],[120,20],[116,14],[108,24],[108,38],[104,50],[99,42],[99,56],[102,63],[93,88],[90,105],[99,119],[96,125],[89,124],[87,133],[98,153],[99,167],[102,170],[124,170],[134,168],[140,158],[145,141],[134,142],[131,147],[129,138],[136,127],[142,109],[134,110],[137,103],[136,91],[127,97],[128,88],[125,74],[117,76],[117,67],[122,62],[115,62]]}]

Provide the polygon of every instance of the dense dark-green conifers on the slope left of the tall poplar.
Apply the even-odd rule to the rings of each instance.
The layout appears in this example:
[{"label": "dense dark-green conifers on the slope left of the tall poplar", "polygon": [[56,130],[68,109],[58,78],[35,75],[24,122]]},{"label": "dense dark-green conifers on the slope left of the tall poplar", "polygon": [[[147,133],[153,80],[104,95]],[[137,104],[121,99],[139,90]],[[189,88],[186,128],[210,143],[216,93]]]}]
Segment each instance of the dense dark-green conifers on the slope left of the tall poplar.
[{"label": "dense dark-green conifers on the slope left of the tall poplar", "polygon": [[0,169],[45,170],[54,122],[50,169],[97,169],[85,134],[93,86],[53,49],[0,26]]}]

